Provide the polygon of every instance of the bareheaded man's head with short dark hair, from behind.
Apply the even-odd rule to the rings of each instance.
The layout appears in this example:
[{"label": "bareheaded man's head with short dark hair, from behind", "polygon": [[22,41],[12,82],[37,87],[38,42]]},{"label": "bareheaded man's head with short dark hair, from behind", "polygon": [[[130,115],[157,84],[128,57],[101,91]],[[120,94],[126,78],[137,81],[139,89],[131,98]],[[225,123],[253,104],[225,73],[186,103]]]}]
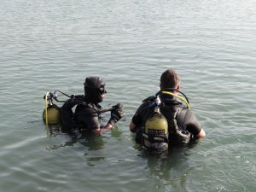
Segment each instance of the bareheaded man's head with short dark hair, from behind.
[{"label": "bareheaded man's head with short dark hair, from behind", "polygon": [[176,89],[177,85],[180,83],[179,76],[177,72],[173,69],[167,69],[160,77],[161,89],[172,88]]}]

